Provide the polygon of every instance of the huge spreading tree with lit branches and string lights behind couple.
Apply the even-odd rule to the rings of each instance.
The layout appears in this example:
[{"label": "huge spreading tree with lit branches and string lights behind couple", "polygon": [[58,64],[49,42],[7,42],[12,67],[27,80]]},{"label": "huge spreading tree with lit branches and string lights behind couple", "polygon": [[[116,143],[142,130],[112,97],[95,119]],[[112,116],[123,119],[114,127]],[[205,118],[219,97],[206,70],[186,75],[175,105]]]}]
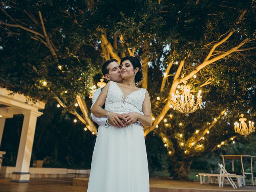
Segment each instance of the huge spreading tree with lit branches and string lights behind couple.
[{"label": "huge spreading tree with lit branches and string lights behind couple", "polygon": [[[4,79],[15,85],[14,92],[55,98],[91,132],[96,133],[96,126],[88,96],[101,63],[140,57],[142,87],[150,92],[155,118],[144,135],[153,131],[162,137],[176,162],[177,178],[186,178],[195,156],[233,138],[237,110],[252,106],[254,1],[0,3]],[[170,109],[172,93],[184,82],[193,92],[202,89],[204,101],[203,109],[188,118]],[[252,106],[248,116],[254,114]]]}]

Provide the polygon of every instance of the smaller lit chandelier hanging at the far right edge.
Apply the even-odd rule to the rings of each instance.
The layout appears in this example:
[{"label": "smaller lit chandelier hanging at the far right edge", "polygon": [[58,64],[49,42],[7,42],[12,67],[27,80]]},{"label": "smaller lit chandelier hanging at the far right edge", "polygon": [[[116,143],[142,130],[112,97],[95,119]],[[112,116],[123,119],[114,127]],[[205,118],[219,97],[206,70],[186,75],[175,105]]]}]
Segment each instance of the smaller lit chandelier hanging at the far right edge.
[{"label": "smaller lit chandelier hanging at the far right edge", "polygon": [[239,119],[240,123],[235,122],[235,126],[234,126],[235,132],[244,136],[247,136],[252,132],[254,132],[255,131],[254,122],[249,121],[249,128],[248,128],[246,124],[247,119],[244,118],[244,114],[241,114],[240,117],[241,117]]}]

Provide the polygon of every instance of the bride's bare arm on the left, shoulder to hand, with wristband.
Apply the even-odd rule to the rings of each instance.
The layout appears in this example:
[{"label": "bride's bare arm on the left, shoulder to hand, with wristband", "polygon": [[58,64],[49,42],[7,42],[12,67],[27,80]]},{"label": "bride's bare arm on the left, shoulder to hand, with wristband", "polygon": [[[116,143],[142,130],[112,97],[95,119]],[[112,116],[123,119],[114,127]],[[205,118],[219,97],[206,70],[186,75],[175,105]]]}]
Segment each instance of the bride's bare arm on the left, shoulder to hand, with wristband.
[{"label": "bride's bare arm on the left, shoulder to hand, with wristband", "polygon": [[[118,113],[109,112],[108,110],[104,110],[102,108],[102,106],[106,102],[109,86],[110,86],[110,82],[108,82],[106,86],[103,88],[103,90],[101,91],[96,102],[92,106],[91,112],[96,117],[109,117],[109,120],[112,122],[114,126],[121,127],[121,126],[124,126],[124,123],[120,119],[126,121],[124,116]],[[109,112],[109,116],[108,116],[108,112]]]}]

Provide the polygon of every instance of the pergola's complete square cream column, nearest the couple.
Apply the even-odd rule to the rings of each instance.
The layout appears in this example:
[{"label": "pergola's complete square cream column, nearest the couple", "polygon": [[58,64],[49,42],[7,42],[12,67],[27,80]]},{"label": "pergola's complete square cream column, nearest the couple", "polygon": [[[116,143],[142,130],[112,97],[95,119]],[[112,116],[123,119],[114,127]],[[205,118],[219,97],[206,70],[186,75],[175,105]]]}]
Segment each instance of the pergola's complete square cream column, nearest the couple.
[{"label": "pergola's complete square cream column, nearest the couple", "polygon": [[32,147],[34,142],[34,134],[36,130],[37,117],[42,115],[42,112],[28,110],[23,113],[24,120],[20,136],[20,145],[16,166],[12,173],[12,180],[14,182],[29,182],[30,173],[30,159],[32,154]]}]

